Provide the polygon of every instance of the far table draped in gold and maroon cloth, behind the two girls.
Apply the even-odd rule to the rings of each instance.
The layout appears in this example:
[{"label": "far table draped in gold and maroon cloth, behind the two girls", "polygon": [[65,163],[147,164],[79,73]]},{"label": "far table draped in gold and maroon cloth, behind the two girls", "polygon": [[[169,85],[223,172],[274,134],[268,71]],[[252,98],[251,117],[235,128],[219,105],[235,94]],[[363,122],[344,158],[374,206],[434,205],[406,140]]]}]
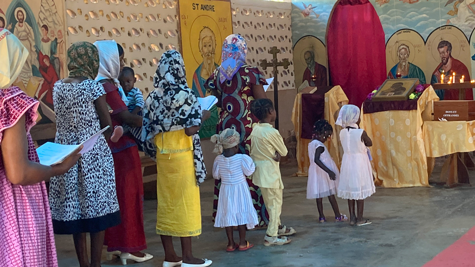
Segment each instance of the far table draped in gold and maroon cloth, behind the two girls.
[{"label": "far table draped in gold and maroon cloth, behind the two girls", "polygon": [[[308,176],[310,160],[308,146],[315,121],[325,119],[333,126],[333,136],[325,145],[337,166],[341,164],[343,149],[340,144],[340,126],[335,127],[340,107],[348,98],[340,86],[319,87],[313,94],[298,93],[292,109],[292,123],[297,138],[297,176]],[[323,112],[322,112],[323,111]]]}]

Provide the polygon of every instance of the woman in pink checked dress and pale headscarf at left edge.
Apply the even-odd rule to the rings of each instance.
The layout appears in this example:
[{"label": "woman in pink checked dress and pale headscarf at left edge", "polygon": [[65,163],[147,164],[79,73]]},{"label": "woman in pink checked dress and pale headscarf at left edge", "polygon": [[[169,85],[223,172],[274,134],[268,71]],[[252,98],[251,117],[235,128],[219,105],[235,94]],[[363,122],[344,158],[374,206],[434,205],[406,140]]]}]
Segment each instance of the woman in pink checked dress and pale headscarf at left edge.
[{"label": "woman in pink checked dress and pale headscarf at left edge", "polygon": [[72,156],[39,164],[30,129],[38,101],[12,86],[28,57],[16,36],[0,28],[0,266],[57,267],[45,182],[74,166]]}]

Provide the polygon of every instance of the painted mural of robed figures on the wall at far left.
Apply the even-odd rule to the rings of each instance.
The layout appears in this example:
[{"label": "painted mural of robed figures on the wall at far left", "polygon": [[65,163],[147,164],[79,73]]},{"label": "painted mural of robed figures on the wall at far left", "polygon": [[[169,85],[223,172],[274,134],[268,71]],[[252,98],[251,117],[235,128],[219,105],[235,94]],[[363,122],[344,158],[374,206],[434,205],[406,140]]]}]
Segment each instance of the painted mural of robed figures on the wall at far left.
[{"label": "painted mural of robed figures on the wall at far left", "polygon": [[14,85],[39,100],[38,124],[55,121],[52,89],[66,66],[64,21],[61,0],[0,2],[0,28],[11,31],[30,52]]}]

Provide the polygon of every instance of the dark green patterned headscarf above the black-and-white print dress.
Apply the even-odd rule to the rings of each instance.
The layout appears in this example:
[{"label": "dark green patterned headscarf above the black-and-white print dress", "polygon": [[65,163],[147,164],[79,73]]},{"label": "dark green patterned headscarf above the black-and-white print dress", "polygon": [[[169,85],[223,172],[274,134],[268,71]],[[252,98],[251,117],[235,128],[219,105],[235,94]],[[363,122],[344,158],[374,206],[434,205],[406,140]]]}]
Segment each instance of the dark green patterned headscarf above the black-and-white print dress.
[{"label": "dark green patterned headscarf above the black-and-white print dress", "polygon": [[99,52],[90,42],[75,42],[68,48],[70,77],[87,77],[94,80],[99,72]]}]

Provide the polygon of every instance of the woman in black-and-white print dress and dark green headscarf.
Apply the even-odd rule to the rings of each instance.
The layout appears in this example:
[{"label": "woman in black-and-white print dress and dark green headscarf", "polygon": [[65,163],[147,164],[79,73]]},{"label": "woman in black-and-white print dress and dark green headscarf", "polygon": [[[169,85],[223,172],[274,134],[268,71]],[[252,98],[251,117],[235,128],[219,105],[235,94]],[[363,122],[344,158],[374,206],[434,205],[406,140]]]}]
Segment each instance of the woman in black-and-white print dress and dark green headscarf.
[{"label": "woman in black-and-white print dress and dark green headscarf", "polygon": [[[106,91],[93,80],[99,69],[96,47],[73,43],[68,69],[70,77],[57,81],[53,89],[55,142],[79,144],[111,125]],[[105,135],[109,137],[110,131]],[[51,179],[49,199],[55,233],[73,234],[80,266],[99,266],[104,231],[120,223],[114,161],[104,135],[68,173]],[[86,232],[91,233],[91,264]]]}]

